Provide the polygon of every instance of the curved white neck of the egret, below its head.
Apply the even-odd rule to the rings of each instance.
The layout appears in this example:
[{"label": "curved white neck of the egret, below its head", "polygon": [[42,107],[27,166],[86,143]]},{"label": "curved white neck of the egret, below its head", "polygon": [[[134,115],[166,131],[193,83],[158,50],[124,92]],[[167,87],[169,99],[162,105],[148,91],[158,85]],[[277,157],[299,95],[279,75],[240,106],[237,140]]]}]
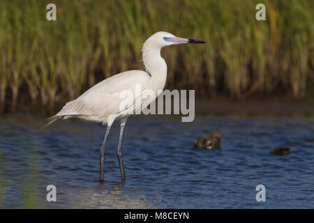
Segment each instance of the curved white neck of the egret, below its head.
[{"label": "curved white neck of the egret, below its head", "polygon": [[160,48],[144,45],[142,49],[143,63],[146,71],[151,75],[156,90],[163,90],[167,79],[167,64],[160,55]]}]

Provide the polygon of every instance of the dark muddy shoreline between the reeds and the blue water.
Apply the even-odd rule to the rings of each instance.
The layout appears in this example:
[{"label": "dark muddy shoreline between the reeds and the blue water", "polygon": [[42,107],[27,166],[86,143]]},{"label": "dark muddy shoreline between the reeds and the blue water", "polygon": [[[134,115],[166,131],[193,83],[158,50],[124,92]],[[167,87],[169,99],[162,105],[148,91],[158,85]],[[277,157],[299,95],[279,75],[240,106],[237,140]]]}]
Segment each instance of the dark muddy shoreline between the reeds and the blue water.
[{"label": "dark muddy shoreline between the reeds and the blue water", "polygon": [[[65,103],[58,103],[52,108],[43,107],[38,103],[30,106],[17,107],[16,114],[30,113],[40,116],[52,116],[57,113]],[[10,106],[6,106],[1,115],[14,114]],[[200,116],[313,116],[314,100],[294,101],[287,99],[276,100],[217,100],[195,99],[195,115]]]}]

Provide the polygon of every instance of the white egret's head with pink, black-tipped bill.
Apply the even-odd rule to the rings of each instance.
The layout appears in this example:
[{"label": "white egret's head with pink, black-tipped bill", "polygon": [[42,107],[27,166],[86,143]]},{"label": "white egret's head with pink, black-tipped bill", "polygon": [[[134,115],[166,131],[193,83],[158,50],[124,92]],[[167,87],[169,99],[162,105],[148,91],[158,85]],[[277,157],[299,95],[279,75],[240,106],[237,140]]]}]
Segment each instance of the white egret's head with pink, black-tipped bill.
[{"label": "white egret's head with pink, black-tipped bill", "polygon": [[161,49],[163,47],[167,47],[170,45],[177,45],[181,43],[205,43],[205,42],[202,40],[192,40],[188,38],[181,38],[181,37],[174,36],[171,33],[159,31],[157,33],[154,33],[151,37],[149,37],[147,39],[147,43]]}]

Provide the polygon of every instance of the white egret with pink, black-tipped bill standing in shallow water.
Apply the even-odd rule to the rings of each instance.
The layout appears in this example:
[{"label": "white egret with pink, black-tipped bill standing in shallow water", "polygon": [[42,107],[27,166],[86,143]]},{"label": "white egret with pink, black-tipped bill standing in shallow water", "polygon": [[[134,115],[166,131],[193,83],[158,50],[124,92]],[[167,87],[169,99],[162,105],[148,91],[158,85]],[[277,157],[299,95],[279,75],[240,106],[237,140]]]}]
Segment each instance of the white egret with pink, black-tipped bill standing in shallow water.
[{"label": "white egret with pink, black-tipped bill standing in shallow water", "polygon": [[[85,93],[80,95],[75,100],[72,100],[61,109],[56,115],[48,118],[50,125],[58,119],[67,118],[81,118],[87,121],[95,121],[107,124],[107,130],[103,139],[103,146],[100,150],[100,180],[103,180],[104,161],[105,161],[105,147],[107,137],[110,132],[112,123],[115,120],[120,121],[120,136],[117,149],[117,157],[121,171],[121,179],[126,179],[124,173],[124,162],[122,160],[122,138],[124,134],[124,127],[126,120],[132,114],[138,114],[153,102],[158,97],[158,90],[163,90],[167,78],[167,65],[165,60],[160,56],[160,50],[163,47],[170,45],[177,45],[181,43],[205,43],[201,40],[191,40],[186,38],[179,38],[171,33],[159,31],[149,37],[142,47],[142,59],[145,67],[143,70],[128,70],[113,75],[102,82],[91,87]],[[129,105],[121,109],[121,102],[124,98],[121,97],[123,91],[135,93],[135,86],[140,84],[142,92],[146,89],[154,91],[155,97],[141,100],[139,97],[133,98]],[[140,100],[140,103],[137,101]],[[130,109],[133,111],[130,111]]]}]

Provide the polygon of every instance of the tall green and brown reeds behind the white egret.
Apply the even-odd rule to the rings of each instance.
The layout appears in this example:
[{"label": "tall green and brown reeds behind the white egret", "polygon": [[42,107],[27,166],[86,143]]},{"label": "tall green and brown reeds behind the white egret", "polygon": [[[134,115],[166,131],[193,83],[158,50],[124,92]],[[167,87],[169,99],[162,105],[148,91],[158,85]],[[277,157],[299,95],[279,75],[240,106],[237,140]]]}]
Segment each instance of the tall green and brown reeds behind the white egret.
[{"label": "tall green and brown reeds behind the white egret", "polygon": [[[207,98],[313,93],[313,1],[56,0],[52,22],[47,3],[0,1],[2,112],[31,103],[53,110],[101,79],[141,68],[142,43],[156,31],[207,42],[163,49],[168,89]],[[255,20],[257,3],[266,21]]]}]

